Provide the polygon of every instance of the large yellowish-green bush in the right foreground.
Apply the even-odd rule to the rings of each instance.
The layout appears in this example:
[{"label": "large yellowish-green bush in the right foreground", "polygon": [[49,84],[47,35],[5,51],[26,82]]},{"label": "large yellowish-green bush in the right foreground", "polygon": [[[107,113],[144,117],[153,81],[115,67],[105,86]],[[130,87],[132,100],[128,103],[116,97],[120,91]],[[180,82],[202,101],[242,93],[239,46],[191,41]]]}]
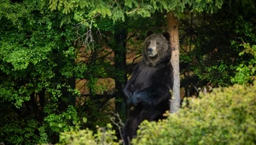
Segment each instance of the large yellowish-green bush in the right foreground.
[{"label": "large yellowish-green bush in the right foreground", "polygon": [[256,85],[214,90],[158,123],[144,121],[133,144],[255,144]]}]

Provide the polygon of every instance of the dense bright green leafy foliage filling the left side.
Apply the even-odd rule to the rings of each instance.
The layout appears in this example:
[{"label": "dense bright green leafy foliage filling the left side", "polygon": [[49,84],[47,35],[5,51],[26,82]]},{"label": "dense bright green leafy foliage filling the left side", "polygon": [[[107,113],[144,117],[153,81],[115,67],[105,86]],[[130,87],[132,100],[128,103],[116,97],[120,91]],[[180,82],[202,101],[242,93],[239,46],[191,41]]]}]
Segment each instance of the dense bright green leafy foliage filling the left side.
[{"label": "dense bright green leafy foliage filling the left side", "polygon": [[59,131],[78,129],[86,117],[73,107],[75,32],[64,14],[44,1],[0,3],[0,140],[7,144],[56,142]]}]

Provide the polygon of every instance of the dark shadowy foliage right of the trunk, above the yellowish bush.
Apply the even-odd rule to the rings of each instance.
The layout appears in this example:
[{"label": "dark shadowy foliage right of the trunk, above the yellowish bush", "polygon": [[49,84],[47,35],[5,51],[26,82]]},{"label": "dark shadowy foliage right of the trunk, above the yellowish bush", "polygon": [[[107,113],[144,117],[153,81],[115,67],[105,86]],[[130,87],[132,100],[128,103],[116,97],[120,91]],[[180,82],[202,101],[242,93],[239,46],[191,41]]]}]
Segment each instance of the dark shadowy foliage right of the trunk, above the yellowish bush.
[{"label": "dark shadowy foliage right of the trunk, above the yellowish bush", "polygon": [[[181,44],[185,49],[180,61],[181,72],[188,79],[186,85],[199,88],[207,84],[218,87],[253,82],[255,55],[247,49],[253,49],[256,43],[252,16],[256,11],[248,3],[251,1],[225,2],[216,14],[191,14],[191,21],[183,22]],[[189,71],[193,75],[186,74]]]}]

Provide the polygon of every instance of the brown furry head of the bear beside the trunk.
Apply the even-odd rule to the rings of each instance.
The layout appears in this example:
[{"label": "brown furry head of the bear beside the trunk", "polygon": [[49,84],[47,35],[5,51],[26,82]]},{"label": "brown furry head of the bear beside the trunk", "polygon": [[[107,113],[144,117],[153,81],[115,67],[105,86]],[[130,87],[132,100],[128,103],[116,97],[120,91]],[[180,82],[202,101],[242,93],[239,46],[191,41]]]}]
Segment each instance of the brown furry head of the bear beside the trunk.
[{"label": "brown furry head of the bear beside the trunk", "polygon": [[143,43],[143,61],[146,65],[155,67],[161,62],[170,61],[172,50],[169,32],[162,34],[147,32],[147,36]]}]

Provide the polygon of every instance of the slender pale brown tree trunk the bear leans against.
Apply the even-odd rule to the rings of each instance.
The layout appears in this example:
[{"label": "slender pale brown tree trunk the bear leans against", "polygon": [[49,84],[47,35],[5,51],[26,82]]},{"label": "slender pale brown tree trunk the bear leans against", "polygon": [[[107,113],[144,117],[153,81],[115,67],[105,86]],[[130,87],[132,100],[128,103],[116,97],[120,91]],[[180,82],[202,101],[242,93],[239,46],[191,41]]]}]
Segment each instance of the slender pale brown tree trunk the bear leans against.
[{"label": "slender pale brown tree trunk the bear leans against", "polygon": [[178,38],[178,20],[169,12],[167,14],[168,32],[170,33],[170,42],[172,48],[172,67],[173,67],[173,90],[171,98],[170,113],[176,113],[180,107],[180,78],[179,78],[179,38]]}]

